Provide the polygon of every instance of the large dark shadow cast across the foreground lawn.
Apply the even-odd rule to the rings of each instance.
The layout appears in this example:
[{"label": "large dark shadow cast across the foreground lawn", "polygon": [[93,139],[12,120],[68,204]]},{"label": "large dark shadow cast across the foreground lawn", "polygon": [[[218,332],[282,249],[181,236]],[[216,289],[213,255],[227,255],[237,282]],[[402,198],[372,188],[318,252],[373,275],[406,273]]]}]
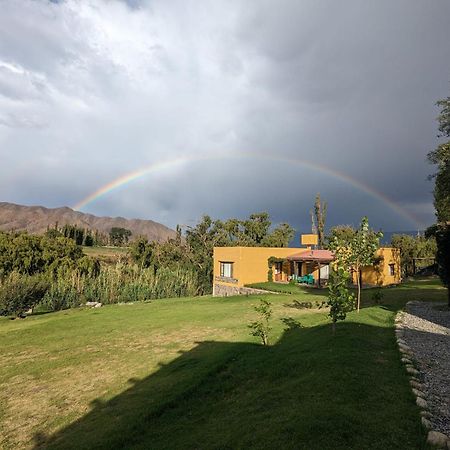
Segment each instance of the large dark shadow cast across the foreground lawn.
[{"label": "large dark shadow cast across the foreground lawn", "polygon": [[271,347],[199,342],[35,449],[421,448],[392,328],[286,325]]}]

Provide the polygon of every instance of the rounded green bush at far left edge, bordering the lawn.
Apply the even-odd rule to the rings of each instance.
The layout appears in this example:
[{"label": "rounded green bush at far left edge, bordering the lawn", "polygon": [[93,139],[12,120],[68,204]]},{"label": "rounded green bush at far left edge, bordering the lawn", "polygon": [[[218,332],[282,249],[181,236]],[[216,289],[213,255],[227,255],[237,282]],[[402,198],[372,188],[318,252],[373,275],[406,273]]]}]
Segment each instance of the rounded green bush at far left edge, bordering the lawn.
[{"label": "rounded green bush at far left edge, bordering the lawn", "polygon": [[48,281],[40,275],[13,272],[0,287],[0,315],[24,317],[43,299],[48,288]]}]

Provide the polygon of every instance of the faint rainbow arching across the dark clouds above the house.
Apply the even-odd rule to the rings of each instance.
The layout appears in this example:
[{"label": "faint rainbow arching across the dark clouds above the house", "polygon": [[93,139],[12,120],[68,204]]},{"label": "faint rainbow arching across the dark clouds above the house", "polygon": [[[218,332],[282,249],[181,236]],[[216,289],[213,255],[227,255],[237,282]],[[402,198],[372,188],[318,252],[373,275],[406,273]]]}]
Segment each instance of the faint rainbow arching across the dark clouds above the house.
[{"label": "faint rainbow arching across the dark clouds above the house", "polygon": [[251,152],[245,152],[245,153],[239,153],[239,154],[215,154],[215,155],[199,155],[199,156],[189,156],[189,157],[178,157],[173,158],[166,161],[159,161],[153,164],[150,164],[146,167],[140,168],[138,170],[126,173],[121,175],[120,177],[110,181],[109,183],[106,183],[105,185],[101,186],[94,192],[90,193],[88,196],[80,200],[76,205],[73,206],[73,209],[75,210],[81,210],[85,208],[87,205],[95,202],[100,197],[109,194],[110,192],[125,186],[129,183],[132,183],[133,181],[145,177],[147,175],[150,175],[152,173],[161,172],[167,168],[173,168],[178,165],[183,164],[191,164],[195,162],[201,162],[201,161],[213,161],[213,160],[225,160],[225,159],[257,159],[259,161],[266,160],[270,162],[282,162],[282,163],[288,163],[291,165],[297,165],[301,167],[306,167],[318,172],[322,172],[324,174],[330,175],[335,179],[338,179],[350,186],[353,186],[354,188],[358,189],[359,191],[365,192],[369,196],[371,196],[374,199],[379,200],[383,204],[385,204],[387,207],[392,209],[394,212],[396,212],[398,215],[404,217],[409,222],[414,224],[414,227],[416,228],[424,228],[424,224],[411,212],[407,211],[405,208],[400,206],[398,203],[394,202],[392,199],[387,197],[385,194],[377,191],[376,189],[368,186],[367,184],[362,183],[361,181],[351,177],[350,175],[344,174],[342,172],[339,172],[335,169],[331,169],[330,167],[324,166],[322,164],[318,164],[312,161],[307,160],[300,160],[300,159],[294,159],[284,156],[271,156],[271,155],[265,155],[265,154],[257,154],[257,153],[251,153]]}]

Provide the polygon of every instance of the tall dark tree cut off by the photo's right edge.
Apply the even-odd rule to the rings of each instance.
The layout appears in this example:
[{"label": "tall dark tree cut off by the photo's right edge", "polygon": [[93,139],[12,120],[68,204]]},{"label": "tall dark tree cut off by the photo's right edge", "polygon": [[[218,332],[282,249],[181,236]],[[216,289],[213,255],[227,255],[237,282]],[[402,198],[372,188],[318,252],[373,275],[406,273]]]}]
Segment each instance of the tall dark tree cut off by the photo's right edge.
[{"label": "tall dark tree cut off by the photo's right edge", "polygon": [[[450,138],[450,97],[437,102],[441,108],[437,118],[439,137]],[[437,224],[431,227],[429,234],[436,238],[439,276],[448,290],[450,307],[450,141],[444,142],[428,153],[430,163],[437,165],[434,178],[434,207]]]}]

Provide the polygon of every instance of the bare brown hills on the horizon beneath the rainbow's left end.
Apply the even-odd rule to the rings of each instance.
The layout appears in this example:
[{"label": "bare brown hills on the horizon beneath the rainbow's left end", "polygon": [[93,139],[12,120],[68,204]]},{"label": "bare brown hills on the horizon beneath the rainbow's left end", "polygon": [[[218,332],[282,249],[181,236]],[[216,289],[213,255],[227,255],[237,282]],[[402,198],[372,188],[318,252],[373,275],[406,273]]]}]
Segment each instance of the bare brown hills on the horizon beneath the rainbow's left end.
[{"label": "bare brown hills on the horizon beneath the rainbow's left end", "polygon": [[97,217],[68,207],[45,208],[0,202],[0,230],[41,234],[47,227],[54,227],[56,222],[59,227],[77,225],[102,233],[109,233],[113,227],[127,228],[133,236],[146,236],[149,240],[160,242],[175,236],[174,230],[153,220]]}]

